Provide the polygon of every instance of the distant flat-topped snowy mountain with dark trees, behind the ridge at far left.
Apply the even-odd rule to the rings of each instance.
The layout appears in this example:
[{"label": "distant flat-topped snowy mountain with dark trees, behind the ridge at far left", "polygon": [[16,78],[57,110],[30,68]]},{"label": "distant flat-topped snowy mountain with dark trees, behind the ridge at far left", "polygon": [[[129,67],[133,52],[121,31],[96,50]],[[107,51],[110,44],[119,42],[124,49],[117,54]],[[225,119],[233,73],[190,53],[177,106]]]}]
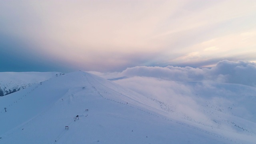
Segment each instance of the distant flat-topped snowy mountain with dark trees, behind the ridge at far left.
[{"label": "distant flat-topped snowy mountain with dark trees, behind the ridge at far left", "polygon": [[0,72],[0,96],[11,94],[18,90],[38,84],[60,72]]}]

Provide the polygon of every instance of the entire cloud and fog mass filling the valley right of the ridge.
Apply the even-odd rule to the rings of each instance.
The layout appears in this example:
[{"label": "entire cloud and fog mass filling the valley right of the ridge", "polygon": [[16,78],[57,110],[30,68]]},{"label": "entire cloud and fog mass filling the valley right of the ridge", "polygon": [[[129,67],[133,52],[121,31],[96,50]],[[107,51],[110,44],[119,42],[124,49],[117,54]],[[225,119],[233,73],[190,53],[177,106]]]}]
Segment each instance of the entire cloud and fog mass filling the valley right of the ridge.
[{"label": "entire cloud and fog mass filling the valley right of the ridge", "polygon": [[256,122],[253,62],[223,60],[212,68],[136,66],[122,72],[91,73],[154,99],[172,117],[234,132],[234,123],[243,124],[239,120],[230,124],[227,114]]}]

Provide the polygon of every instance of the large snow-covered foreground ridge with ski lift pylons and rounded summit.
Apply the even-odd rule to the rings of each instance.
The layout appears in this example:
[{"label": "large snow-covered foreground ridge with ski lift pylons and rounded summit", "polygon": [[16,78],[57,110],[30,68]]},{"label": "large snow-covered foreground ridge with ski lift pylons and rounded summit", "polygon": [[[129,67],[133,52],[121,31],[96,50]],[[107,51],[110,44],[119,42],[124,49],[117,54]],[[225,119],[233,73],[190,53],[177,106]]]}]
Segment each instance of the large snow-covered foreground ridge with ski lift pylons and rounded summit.
[{"label": "large snow-covered foreground ridge with ski lift pylons and rounded summit", "polygon": [[[243,102],[251,100],[252,103],[248,108],[254,108],[252,104],[255,104],[256,98],[253,94],[256,90],[252,88],[250,92],[252,92],[251,97],[240,99]],[[198,98],[198,101],[200,100],[202,99]],[[255,110],[246,111],[252,116],[242,118],[242,115],[235,116],[223,112],[226,109],[220,111],[209,104],[205,103],[205,105],[198,104],[206,121],[197,121],[186,115],[180,116],[170,104],[138,94],[109,80],[87,72],[72,72],[46,80],[42,85],[36,84],[0,97],[0,143],[253,144],[256,142],[256,124],[253,116],[255,113],[251,114]],[[222,105],[226,106],[226,104]],[[7,112],[4,108],[7,108]],[[232,110],[234,108],[236,106],[232,106]],[[241,112],[243,111],[245,110],[241,109]],[[77,115],[79,119],[75,119]],[[224,124],[223,120],[227,120],[225,121],[227,124]],[[68,130],[65,129],[66,126]]]}]

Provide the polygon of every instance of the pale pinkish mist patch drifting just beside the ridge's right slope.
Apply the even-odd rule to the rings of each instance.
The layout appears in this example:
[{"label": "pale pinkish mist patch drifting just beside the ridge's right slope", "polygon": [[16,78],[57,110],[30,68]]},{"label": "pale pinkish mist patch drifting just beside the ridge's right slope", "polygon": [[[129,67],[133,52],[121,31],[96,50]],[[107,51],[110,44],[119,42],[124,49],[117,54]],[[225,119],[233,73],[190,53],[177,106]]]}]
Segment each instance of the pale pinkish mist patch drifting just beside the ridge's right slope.
[{"label": "pale pinkish mist patch drifting just beside the ridge's right slope", "polygon": [[209,123],[209,118],[200,112],[200,107],[193,99],[193,88],[182,82],[143,76],[134,76],[114,82],[154,99],[155,102],[163,102],[161,107],[170,112],[168,116],[192,118],[196,122]]}]

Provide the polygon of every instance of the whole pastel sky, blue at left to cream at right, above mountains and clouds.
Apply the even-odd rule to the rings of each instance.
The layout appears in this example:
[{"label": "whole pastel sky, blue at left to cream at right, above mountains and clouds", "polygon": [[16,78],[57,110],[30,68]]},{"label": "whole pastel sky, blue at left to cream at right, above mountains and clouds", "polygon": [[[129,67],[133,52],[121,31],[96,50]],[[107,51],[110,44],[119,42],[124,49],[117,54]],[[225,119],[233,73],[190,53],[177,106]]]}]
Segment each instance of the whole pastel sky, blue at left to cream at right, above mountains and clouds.
[{"label": "whole pastel sky, blue at left to cream at right, above mountains and clouds", "polygon": [[2,0],[0,72],[256,62],[255,0]]}]

